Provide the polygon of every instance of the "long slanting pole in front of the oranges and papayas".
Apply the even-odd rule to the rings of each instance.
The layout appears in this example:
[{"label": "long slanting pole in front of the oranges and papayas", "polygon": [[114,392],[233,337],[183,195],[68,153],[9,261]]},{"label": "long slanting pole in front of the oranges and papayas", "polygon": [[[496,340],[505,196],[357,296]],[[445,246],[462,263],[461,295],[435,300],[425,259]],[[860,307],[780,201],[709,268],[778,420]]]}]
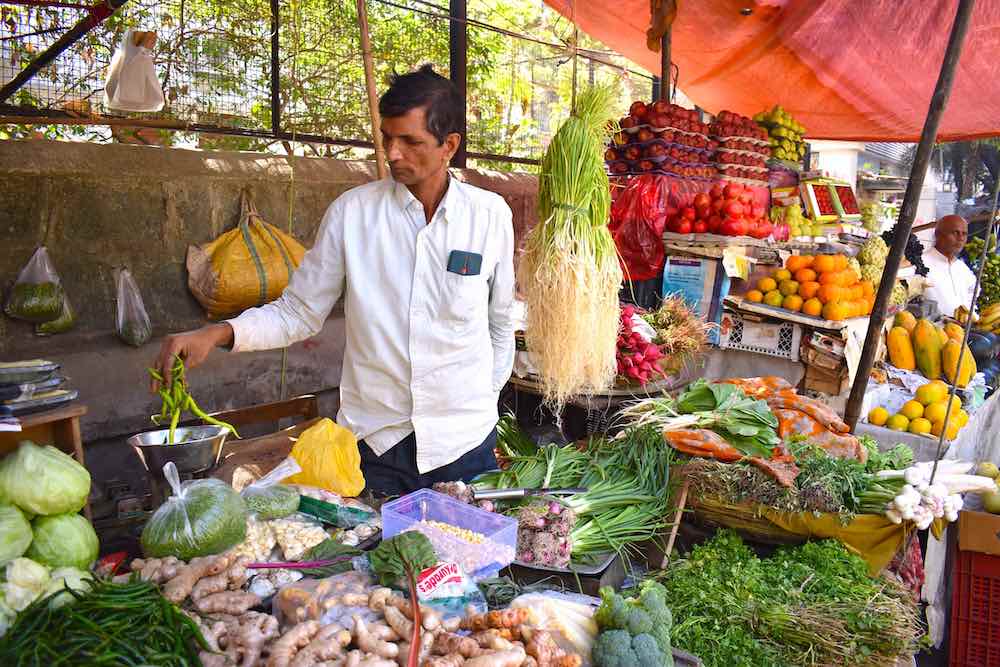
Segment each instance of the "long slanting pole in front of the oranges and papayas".
[{"label": "long slanting pole in front of the oranges and papayas", "polygon": [[878,293],[875,295],[875,305],[868,320],[868,333],[865,336],[865,345],[861,351],[858,372],[854,377],[854,385],[851,387],[850,398],[847,399],[847,410],[845,411],[844,421],[847,422],[852,431],[858,423],[861,403],[864,400],[865,390],[868,387],[868,376],[871,374],[872,365],[875,363],[875,352],[878,350],[879,337],[882,335],[882,325],[885,323],[885,311],[889,305],[889,294],[892,292],[892,286],[896,281],[896,272],[899,270],[899,263],[903,258],[906,241],[910,238],[913,218],[917,214],[917,204],[920,202],[920,191],[924,187],[924,176],[927,174],[927,167],[930,164],[931,154],[937,138],[938,125],[941,123],[941,116],[944,114],[945,107],[948,104],[948,97],[951,95],[951,85],[955,79],[955,68],[958,65],[959,57],[962,55],[965,33],[969,30],[969,22],[972,18],[972,10],[975,4],[975,0],[959,0],[955,22],[951,26],[951,36],[948,38],[948,46],[944,52],[944,61],[941,63],[941,73],[938,74],[937,84],[934,87],[934,95],[931,97],[930,106],[927,110],[927,118],[924,120],[924,130],[920,134],[917,154],[913,160],[913,167],[910,169],[910,180],[906,185],[906,194],[903,195],[903,206],[899,211],[899,219],[896,221],[896,235],[893,237],[892,247],[889,248],[889,255],[885,260],[882,282],[878,286]]}]

